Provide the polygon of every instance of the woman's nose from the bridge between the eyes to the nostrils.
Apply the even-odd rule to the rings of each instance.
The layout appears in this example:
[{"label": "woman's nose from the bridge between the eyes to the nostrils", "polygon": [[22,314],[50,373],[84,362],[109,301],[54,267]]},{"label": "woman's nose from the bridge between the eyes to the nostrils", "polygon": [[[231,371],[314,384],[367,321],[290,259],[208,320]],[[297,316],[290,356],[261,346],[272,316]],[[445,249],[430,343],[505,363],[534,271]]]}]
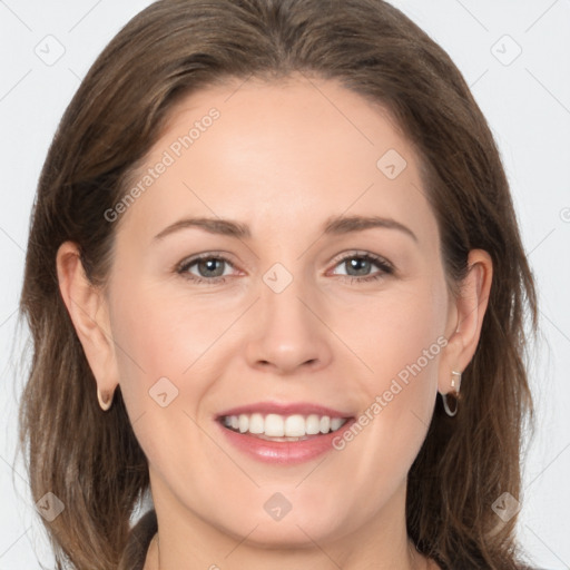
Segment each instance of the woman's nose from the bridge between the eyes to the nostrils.
[{"label": "woman's nose from the bridge between the eyes to the nostrils", "polygon": [[257,324],[247,347],[253,366],[271,364],[283,373],[301,365],[317,367],[331,357],[326,327],[315,315],[314,288],[303,278],[299,264],[295,268],[294,274],[275,263],[262,276]]}]

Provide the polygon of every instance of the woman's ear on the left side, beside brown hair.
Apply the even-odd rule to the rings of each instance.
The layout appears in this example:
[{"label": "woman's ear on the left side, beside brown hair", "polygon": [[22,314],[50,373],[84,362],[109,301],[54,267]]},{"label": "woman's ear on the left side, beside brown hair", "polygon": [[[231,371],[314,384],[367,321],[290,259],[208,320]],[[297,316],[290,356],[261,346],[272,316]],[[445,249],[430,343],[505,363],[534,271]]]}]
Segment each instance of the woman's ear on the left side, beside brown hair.
[{"label": "woman's ear on the left side, beside brown hair", "polygon": [[107,299],[87,278],[77,244],[61,244],[56,263],[61,296],[106,402],[119,383]]}]

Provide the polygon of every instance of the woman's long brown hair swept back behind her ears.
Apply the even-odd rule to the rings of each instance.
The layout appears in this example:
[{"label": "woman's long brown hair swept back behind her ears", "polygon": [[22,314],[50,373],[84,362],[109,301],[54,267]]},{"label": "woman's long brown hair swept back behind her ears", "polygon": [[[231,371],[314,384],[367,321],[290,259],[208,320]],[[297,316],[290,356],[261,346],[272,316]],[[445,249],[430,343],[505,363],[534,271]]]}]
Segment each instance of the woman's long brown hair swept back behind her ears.
[{"label": "woman's long brown hair swept back behind her ears", "polygon": [[66,505],[46,522],[57,568],[114,569],[147,460],[120,387],[102,413],[96,382],[59,293],[56,253],[79,245],[87,276],[105,286],[116,227],[104,213],[160,135],[174,105],[229,79],[340,81],[387,109],[417,149],[450,284],[470,249],[489,252],[493,284],[481,338],[463,374],[455,417],[438,399],[409,473],[406,520],[417,548],[444,569],[522,568],[515,517],[491,509],[519,498],[520,452],[532,420],[525,315],[537,297],[509,186],[488,124],[445,51],[381,0],[161,0],[98,57],[67,108],[39,180],[20,317],[33,357],[20,409],[33,499]]}]

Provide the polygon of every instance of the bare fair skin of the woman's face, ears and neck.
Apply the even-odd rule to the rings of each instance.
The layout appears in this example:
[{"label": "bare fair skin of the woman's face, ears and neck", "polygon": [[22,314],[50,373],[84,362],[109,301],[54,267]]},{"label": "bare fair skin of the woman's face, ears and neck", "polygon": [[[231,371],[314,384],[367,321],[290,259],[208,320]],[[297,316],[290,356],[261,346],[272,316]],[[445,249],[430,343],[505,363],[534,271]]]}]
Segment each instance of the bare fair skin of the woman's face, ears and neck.
[{"label": "bare fair skin of the woman's face, ears and neck", "polygon": [[[148,458],[160,568],[438,568],[409,549],[406,475],[438,391],[448,393],[451,371],[474,354],[490,257],[470,253],[462,294],[452,297],[412,146],[380,107],[334,81],[294,76],[193,94],[146,166],[212,107],[219,119],[121,215],[106,292],[89,286],[75,244],[57,257],[98,387],[111,394],[120,384]],[[389,149],[407,163],[394,179],[376,166]],[[393,218],[417,242],[394,228],[323,234],[330,216],[357,214]],[[190,216],[238,220],[252,237],[188,227],[154,243]],[[225,283],[197,284],[174,269],[220,250]],[[357,273],[341,261],[363,252],[395,273],[374,264]],[[275,263],[293,277],[281,293],[263,281]],[[215,268],[188,271],[212,279]],[[347,274],[381,278],[351,283]],[[268,465],[214,424],[224,409],[262,400],[358,416],[439,337],[446,346],[342,451]],[[178,390],[166,407],[148,394],[164,376]],[[281,521],[264,510],[277,492],[292,504]],[[157,568],[153,541],[145,570]]]}]

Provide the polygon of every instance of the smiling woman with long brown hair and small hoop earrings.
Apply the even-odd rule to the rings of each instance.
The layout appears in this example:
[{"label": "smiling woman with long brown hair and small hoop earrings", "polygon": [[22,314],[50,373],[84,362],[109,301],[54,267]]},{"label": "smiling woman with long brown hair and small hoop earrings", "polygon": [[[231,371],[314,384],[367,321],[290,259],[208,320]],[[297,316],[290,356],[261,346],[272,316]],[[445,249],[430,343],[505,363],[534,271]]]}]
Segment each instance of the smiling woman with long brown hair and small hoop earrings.
[{"label": "smiling woman with long brown hair and small hoop earrings", "polygon": [[532,273],[484,117],[390,4],[134,18],[56,134],[21,307],[59,568],[525,568]]}]

